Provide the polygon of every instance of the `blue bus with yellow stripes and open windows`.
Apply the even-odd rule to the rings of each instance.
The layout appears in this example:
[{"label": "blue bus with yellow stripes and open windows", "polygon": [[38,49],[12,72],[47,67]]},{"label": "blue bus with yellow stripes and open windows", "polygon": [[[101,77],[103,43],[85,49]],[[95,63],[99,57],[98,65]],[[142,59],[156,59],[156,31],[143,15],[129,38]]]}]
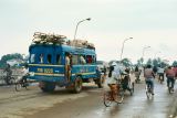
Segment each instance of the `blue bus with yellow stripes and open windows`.
[{"label": "blue bus with yellow stripes and open windows", "polygon": [[[82,84],[91,81],[100,88],[103,87],[104,76],[96,66],[95,49],[34,43],[30,45],[29,53],[29,78],[38,81],[43,92],[52,92],[55,86],[65,86],[80,93]],[[66,74],[66,54],[71,55],[70,76]]]}]

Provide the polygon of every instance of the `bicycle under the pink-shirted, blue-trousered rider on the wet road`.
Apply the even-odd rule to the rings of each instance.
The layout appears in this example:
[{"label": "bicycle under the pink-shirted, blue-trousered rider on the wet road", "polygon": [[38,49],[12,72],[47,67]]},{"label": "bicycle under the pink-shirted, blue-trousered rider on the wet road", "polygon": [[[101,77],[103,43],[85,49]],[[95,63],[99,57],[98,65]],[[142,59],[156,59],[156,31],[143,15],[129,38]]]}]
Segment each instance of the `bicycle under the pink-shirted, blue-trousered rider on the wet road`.
[{"label": "bicycle under the pink-shirted, blue-trousered rider on the wet road", "polygon": [[147,96],[147,98],[152,98],[153,95],[154,95],[154,93],[153,93],[152,82],[146,82],[146,96]]}]

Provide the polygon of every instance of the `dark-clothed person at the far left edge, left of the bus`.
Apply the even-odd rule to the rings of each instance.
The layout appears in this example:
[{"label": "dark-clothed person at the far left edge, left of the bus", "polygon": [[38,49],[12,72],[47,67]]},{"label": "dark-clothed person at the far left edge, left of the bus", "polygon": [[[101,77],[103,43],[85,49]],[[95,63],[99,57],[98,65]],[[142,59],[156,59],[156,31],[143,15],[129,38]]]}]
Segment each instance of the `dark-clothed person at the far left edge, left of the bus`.
[{"label": "dark-clothed person at the far left edge, left of the bus", "polygon": [[7,67],[3,69],[3,73],[7,73],[7,76],[6,76],[6,83],[9,85],[10,84],[10,78],[12,76],[12,69],[10,68],[10,64],[7,64]]}]

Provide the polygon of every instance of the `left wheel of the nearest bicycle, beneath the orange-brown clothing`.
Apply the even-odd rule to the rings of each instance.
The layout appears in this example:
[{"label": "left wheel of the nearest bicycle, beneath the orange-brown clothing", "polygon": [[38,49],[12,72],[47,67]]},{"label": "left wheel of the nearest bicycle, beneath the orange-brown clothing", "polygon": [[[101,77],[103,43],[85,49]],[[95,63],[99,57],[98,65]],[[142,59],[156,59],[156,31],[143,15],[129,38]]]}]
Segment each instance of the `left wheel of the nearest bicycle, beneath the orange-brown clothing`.
[{"label": "left wheel of the nearest bicycle, beneath the orange-brown clothing", "polygon": [[106,107],[110,107],[111,106],[111,104],[112,104],[112,95],[111,95],[112,93],[111,92],[104,92],[104,97],[103,97],[103,101],[104,101],[104,105],[106,106]]}]

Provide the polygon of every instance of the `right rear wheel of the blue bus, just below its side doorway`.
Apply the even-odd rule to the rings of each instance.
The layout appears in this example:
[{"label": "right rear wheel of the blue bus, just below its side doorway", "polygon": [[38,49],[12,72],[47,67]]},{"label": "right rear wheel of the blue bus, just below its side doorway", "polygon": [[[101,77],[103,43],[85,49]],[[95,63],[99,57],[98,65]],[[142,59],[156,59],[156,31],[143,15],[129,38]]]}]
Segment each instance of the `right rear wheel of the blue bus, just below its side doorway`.
[{"label": "right rear wheel of the blue bus, just below its side doorway", "polygon": [[81,76],[77,76],[75,78],[73,90],[74,90],[74,93],[81,93],[81,90],[82,90],[82,78],[81,78]]}]

